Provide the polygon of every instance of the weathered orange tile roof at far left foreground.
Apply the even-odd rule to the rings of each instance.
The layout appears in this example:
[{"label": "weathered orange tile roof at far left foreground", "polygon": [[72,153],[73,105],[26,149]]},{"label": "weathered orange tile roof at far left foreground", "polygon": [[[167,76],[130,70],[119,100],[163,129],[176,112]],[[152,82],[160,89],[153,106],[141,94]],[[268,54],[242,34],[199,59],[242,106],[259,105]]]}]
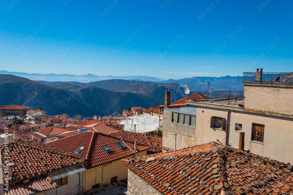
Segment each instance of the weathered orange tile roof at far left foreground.
[{"label": "weathered orange tile roof at far left foreground", "polygon": [[[41,176],[56,170],[64,169],[85,162],[82,157],[64,152],[55,147],[38,141],[11,142],[9,151],[5,152],[1,144],[2,159],[13,163],[13,177],[8,177],[9,183]],[[2,166],[5,167],[4,160]],[[4,180],[6,175],[3,175]]]}]

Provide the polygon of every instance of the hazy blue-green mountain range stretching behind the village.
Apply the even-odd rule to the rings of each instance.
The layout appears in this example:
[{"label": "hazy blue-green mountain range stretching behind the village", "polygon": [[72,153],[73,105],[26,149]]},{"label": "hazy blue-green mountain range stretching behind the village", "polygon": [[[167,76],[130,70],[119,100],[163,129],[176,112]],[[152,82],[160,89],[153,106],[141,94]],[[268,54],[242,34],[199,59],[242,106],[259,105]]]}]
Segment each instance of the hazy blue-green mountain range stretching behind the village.
[{"label": "hazy blue-green mountain range stretching behind the village", "polygon": [[[207,91],[210,82],[212,91],[243,90],[242,77],[192,77],[180,80],[159,82],[111,79],[95,82],[29,80],[15,75],[0,76],[0,106],[22,105],[34,109],[41,106],[50,115],[67,113],[70,116],[81,114],[84,117],[121,113],[128,107],[150,108],[152,104],[162,105],[164,91],[171,92],[171,103],[182,99],[185,83],[190,91]],[[25,75],[34,75],[20,73]],[[38,78],[41,74],[37,74]],[[59,74],[50,74],[59,79]],[[79,77],[78,75],[71,75]],[[41,77],[41,78],[46,78]],[[155,77],[147,77],[155,78]],[[158,78],[156,78],[158,79]],[[51,78],[51,80],[53,80]],[[160,79],[159,79],[160,80]]]}]

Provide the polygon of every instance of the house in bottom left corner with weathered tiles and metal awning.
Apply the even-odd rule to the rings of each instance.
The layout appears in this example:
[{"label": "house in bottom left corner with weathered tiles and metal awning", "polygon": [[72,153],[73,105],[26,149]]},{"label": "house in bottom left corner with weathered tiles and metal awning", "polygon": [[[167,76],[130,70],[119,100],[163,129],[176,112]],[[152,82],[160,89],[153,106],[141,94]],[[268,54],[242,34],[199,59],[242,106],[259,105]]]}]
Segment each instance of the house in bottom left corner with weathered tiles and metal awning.
[{"label": "house in bottom left corner with weathered tiles and metal awning", "polygon": [[83,192],[84,158],[38,141],[11,142],[8,152],[4,146],[1,145],[0,156],[4,174],[0,181],[8,181],[8,184],[2,182],[1,194],[59,195]]}]

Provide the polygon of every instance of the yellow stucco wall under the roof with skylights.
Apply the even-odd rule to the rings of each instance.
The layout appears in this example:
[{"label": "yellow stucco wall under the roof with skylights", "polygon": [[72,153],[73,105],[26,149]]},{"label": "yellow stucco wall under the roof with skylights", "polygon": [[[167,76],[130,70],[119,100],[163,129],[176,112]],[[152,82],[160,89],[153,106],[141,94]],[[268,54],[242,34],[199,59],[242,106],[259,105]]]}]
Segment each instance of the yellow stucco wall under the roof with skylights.
[{"label": "yellow stucco wall under the roof with skylights", "polygon": [[[146,156],[147,151],[142,151],[136,154],[136,157]],[[128,156],[123,159],[134,158],[134,155]],[[109,164],[109,163],[108,163]],[[106,164],[107,165],[107,164]],[[85,171],[84,175],[84,190],[88,191],[92,189],[93,185],[98,184],[103,181],[103,184],[108,184],[111,182],[111,178],[117,176],[117,181],[124,180],[127,178],[128,168],[121,163],[121,159],[113,161],[112,164],[107,166],[98,166]],[[103,170],[103,180],[102,180],[102,170]],[[103,185],[101,184],[101,185]]]}]

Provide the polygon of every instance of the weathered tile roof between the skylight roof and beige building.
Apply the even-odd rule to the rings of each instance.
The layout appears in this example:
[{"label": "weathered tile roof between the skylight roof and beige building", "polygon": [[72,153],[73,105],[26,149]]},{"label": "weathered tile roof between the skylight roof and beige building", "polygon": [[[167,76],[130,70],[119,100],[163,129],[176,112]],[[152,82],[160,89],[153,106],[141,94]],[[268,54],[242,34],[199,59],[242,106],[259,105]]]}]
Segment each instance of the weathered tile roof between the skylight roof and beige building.
[{"label": "weathered tile roof between the skylight roof and beige building", "polygon": [[151,146],[151,148],[147,151],[150,153],[157,153],[157,145],[158,145],[158,152],[162,151],[162,140],[163,140],[162,137],[156,137],[154,135],[146,134],[146,133],[130,132],[130,131],[123,131],[123,130],[114,131],[110,133],[109,135],[113,137],[120,137],[128,141],[134,141],[136,139],[137,143],[139,144]]}]

